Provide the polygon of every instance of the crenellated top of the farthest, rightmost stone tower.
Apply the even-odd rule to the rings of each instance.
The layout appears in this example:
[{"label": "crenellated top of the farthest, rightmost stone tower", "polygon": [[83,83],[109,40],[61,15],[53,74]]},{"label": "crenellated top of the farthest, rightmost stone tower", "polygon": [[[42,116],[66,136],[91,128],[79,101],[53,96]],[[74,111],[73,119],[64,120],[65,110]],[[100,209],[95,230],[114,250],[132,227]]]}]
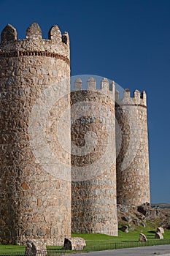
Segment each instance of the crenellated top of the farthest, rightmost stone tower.
[{"label": "crenellated top of the farthest, rightmost stone tower", "polygon": [[123,98],[120,98],[119,91],[115,91],[115,101],[118,105],[141,105],[147,106],[147,94],[145,91],[142,93],[138,90],[135,90],[133,93],[133,97],[131,97],[131,91],[129,89],[125,89],[123,91]]}]

